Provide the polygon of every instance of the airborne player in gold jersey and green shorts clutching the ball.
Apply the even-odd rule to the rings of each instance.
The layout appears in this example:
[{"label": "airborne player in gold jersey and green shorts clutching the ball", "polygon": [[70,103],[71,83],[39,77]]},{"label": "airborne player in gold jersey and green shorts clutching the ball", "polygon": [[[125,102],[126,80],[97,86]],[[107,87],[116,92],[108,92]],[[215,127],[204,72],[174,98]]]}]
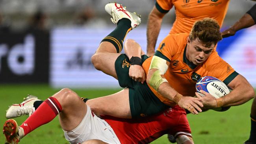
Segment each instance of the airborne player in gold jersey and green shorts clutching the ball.
[{"label": "airborne player in gold jersey and green shorts clutching the ball", "polygon": [[[126,48],[133,49],[131,53],[117,54],[121,51],[120,44],[115,43],[121,30],[126,30],[121,29],[121,26],[133,26],[126,20],[130,18],[115,16],[118,13],[113,10],[111,14],[120,18],[116,28],[119,31],[110,33],[111,41],[100,43],[91,60],[96,69],[118,79],[119,85],[125,89],[108,97],[88,100],[86,103],[95,113],[135,118],[162,111],[165,106],[178,104],[191,113],[198,114],[201,104],[208,108],[232,106],[245,103],[254,97],[254,90],[247,80],[235,72],[216,52],[212,52],[217,42],[222,39],[220,27],[215,20],[208,18],[197,21],[190,34],[169,35],[161,42],[156,54],[148,58],[142,55],[141,50],[136,51],[136,48],[140,47],[132,40],[125,43]],[[128,31],[122,32],[123,37]],[[139,81],[143,81],[145,75],[133,75],[134,72],[143,74],[141,63],[147,75],[147,83],[143,84]],[[191,96],[195,96],[195,84],[200,76],[214,76],[234,90],[220,99],[204,92],[206,97],[193,98]]]}]

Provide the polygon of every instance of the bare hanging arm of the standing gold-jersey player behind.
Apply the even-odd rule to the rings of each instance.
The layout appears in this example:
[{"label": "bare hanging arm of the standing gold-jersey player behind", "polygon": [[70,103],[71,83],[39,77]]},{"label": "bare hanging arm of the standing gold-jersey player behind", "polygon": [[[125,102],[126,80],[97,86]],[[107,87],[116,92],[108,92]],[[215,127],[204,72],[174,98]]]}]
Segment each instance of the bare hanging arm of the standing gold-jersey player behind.
[{"label": "bare hanging arm of the standing gold-jersey player behind", "polygon": [[156,41],[161,29],[162,18],[150,13],[147,25],[147,54],[155,51]]}]

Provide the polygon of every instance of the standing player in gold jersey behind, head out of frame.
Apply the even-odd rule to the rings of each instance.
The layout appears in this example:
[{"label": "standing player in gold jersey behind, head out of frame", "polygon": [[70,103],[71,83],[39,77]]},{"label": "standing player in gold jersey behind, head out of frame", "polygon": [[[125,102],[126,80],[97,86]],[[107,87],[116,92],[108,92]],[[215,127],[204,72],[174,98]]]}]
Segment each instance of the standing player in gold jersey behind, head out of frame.
[{"label": "standing player in gold jersey behind, head out of frame", "polygon": [[156,0],[147,26],[147,55],[155,52],[156,40],[163,16],[175,7],[176,20],[170,34],[189,33],[194,22],[202,18],[213,18],[222,26],[229,0]]}]

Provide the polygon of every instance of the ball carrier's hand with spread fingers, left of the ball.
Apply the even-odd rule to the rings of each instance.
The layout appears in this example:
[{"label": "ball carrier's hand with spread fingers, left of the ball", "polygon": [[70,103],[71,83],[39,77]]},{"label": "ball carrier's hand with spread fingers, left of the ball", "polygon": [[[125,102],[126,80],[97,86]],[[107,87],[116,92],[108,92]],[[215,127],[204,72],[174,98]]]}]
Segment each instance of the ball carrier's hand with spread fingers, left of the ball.
[{"label": "ball carrier's hand with spread fingers, left of the ball", "polygon": [[194,98],[191,96],[183,96],[178,102],[178,105],[184,109],[187,109],[192,114],[198,114],[198,111],[202,112],[200,107],[204,106],[200,98]]}]

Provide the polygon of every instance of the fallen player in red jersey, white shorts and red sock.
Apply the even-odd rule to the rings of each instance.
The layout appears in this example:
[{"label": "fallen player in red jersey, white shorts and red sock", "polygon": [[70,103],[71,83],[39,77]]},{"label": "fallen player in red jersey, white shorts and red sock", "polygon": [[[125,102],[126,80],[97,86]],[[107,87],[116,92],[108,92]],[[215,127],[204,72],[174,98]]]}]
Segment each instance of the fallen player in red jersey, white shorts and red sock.
[{"label": "fallen player in red jersey, white shorts and red sock", "polygon": [[20,126],[13,119],[7,120],[3,129],[6,144],[18,144],[21,138],[58,114],[65,138],[71,144],[147,144],[164,134],[175,135],[178,144],[193,144],[186,111],[178,106],[143,118],[100,119],[67,88],[45,100]]}]

